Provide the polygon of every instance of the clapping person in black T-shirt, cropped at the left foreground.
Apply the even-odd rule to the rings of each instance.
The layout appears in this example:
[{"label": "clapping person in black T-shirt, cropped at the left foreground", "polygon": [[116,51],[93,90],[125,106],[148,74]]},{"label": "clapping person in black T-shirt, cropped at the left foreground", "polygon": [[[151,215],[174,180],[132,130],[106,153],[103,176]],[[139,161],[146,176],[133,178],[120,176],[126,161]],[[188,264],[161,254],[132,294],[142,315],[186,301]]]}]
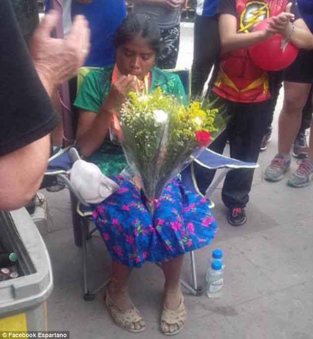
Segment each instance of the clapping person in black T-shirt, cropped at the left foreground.
[{"label": "clapping person in black T-shirt, cropped at the left foreground", "polygon": [[70,38],[46,39],[55,16],[47,15],[40,24],[32,47],[42,87],[9,1],[0,7],[0,210],[24,206],[38,190],[49,157],[49,132],[58,122],[47,93],[77,73],[88,53],[89,32],[82,18]]}]

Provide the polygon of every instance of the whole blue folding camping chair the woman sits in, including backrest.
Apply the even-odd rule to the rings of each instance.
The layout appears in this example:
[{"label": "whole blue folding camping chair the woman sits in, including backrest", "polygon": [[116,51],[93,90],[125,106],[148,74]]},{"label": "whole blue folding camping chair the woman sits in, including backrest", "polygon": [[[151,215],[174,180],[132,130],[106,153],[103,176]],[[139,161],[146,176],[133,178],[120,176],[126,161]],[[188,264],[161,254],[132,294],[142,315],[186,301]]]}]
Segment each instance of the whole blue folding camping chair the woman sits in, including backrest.
[{"label": "whole blue folding camping chair the woman sits in, including backrest", "polygon": [[[78,88],[81,84],[84,76],[87,75],[91,68],[82,67],[78,73]],[[191,85],[191,74],[189,70],[170,70],[178,74],[181,78],[181,81],[184,85],[185,91],[190,95],[190,85]],[[89,288],[87,281],[87,240],[91,238],[92,234],[97,230],[93,227],[89,230],[89,221],[91,216],[91,208],[89,204],[84,201],[79,193],[75,190],[69,180],[69,173],[71,171],[73,163],[78,159],[78,153],[73,148],[66,148],[58,151],[54,154],[48,163],[48,168],[44,177],[44,182],[46,183],[43,187],[53,186],[53,185],[62,185],[65,184],[70,189],[71,196],[71,205],[72,205],[72,222],[73,222],[73,231],[74,231],[74,241],[78,247],[82,247],[83,253],[83,285],[84,285],[84,294],[83,298],[86,301],[93,300],[95,294],[104,288],[110,281],[107,279],[101,286],[95,290]],[[255,163],[246,163],[243,161],[235,160],[220,154],[217,154],[213,151],[204,150],[200,156],[195,160],[199,165],[204,166],[208,169],[224,169],[220,176],[212,183],[210,188],[206,192],[206,198],[211,197],[214,189],[218,184],[223,180],[228,171],[234,168],[256,168],[257,164]],[[194,174],[193,164],[187,167],[182,173],[182,182],[190,190],[199,193],[199,189],[196,185],[196,178]],[[47,184],[48,183],[48,184]],[[202,289],[197,284],[196,277],[196,262],[194,252],[190,252],[191,258],[191,270],[192,270],[192,284],[181,280],[181,284],[189,292],[195,296],[202,294]]]}]

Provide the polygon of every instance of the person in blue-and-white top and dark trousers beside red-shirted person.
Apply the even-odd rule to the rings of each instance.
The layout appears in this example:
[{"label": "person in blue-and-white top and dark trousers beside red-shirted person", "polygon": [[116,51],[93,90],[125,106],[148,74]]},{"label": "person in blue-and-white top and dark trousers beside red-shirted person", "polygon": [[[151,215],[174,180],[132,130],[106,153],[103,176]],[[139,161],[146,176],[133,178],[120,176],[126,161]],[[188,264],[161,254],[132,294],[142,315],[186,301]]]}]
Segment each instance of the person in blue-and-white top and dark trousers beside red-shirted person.
[{"label": "person in blue-and-white top and dark trousers beside red-shirted person", "polygon": [[218,21],[214,18],[218,2],[219,0],[197,0],[192,66],[193,97],[202,94],[204,83],[221,53]]}]

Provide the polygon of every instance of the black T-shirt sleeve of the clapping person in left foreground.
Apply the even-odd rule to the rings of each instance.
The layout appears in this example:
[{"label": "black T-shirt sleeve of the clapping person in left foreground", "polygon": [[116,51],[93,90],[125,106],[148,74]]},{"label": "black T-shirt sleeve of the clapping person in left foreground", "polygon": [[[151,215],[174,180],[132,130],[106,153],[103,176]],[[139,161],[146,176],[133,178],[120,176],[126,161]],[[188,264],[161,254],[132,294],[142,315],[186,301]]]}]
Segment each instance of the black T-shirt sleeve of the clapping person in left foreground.
[{"label": "black T-shirt sleeve of the clapping person in left foreground", "polygon": [[0,5],[0,156],[47,135],[59,122],[8,0]]}]

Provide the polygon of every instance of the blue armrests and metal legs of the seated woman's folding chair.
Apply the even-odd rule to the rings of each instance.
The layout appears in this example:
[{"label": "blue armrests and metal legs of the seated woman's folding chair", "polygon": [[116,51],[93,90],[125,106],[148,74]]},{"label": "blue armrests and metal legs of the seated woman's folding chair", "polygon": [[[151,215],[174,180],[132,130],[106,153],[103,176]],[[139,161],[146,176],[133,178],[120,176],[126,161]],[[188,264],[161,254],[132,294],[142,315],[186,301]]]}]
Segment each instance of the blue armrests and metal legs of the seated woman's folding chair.
[{"label": "blue armrests and metal legs of the seated woman's folding chair", "polygon": [[[83,298],[86,301],[93,300],[95,298],[95,294],[99,292],[102,288],[104,288],[109,282],[110,279],[107,279],[101,286],[99,286],[94,291],[91,291],[88,287],[87,281],[87,239],[90,239],[92,234],[96,231],[94,227],[89,231],[88,223],[91,216],[91,209],[89,204],[84,201],[80,196],[76,189],[72,186],[68,174],[70,173],[71,167],[73,163],[78,159],[78,153],[74,148],[67,148],[59,153],[55,154],[50,158],[48,169],[46,172],[46,177],[55,177],[56,182],[60,181],[65,183],[71,190],[71,193],[78,200],[77,204],[77,215],[79,218],[79,223],[74,225],[76,233],[79,233],[79,237],[81,238],[81,246],[83,253],[83,283],[84,283],[84,295]],[[239,160],[232,159],[230,157],[215,153],[210,150],[204,150],[199,155],[199,157],[195,160],[199,165],[204,166],[208,169],[223,169],[221,174],[214,180],[212,185],[207,189],[206,197],[211,197],[215,188],[217,188],[218,184],[223,180],[226,174],[232,169],[238,168],[256,168],[258,165],[255,163],[247,163]],[[181,173],[182,182],[185,187],[191,191],[198,192],[198,188],[196,185],[196,178],[194,174],[194,166],[191,164]],[[181,284],[185,287],[189,292],[191,292],[195,296],[200,296],[202,294],[202,289],[197,284],[196,277],[196,260],[194,252],[190,252],[191,258],[191,271],[192,271],[192,285],[187,282],[181,280]]]}]

